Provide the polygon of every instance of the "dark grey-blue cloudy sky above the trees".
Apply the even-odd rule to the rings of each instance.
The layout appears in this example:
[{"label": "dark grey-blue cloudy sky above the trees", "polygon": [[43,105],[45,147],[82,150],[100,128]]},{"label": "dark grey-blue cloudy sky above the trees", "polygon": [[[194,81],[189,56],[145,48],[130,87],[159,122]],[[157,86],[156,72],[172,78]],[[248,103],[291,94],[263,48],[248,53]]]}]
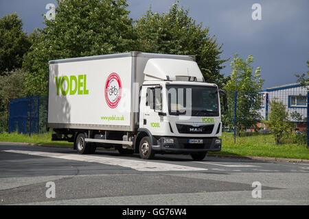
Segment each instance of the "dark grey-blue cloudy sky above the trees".
[{"label": "dark grey-blue cloudy sky above the trees", "polygon": [[[153,12],[168,12],[175,0],[127,0],[133,20]],[[47,3],[56,0],[0,0],[0,17],[16,12],[23,19],[23,29],[30,34],[34,28],[43,28],[43,14]],[[256,8],[261,6],[261,20],[253,20]],[[246,60],[253,55],[254,68],[261,68],[265,79],[263,88],[295,83],[295,74],[306,73],[309,60],[309,1],[308,0],[179,0],[189,15],[209,27],[209,34],[222,44],[225,68],[221,73],[231,74],[229,63],[238,53]],[[205,79],[207,81],[207,79]]]}]

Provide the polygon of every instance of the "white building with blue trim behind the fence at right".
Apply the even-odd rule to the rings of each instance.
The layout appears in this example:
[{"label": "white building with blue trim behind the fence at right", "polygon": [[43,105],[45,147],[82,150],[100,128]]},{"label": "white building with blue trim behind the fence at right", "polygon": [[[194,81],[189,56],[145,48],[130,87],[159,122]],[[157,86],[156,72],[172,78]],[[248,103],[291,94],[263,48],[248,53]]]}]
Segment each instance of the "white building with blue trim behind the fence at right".
[{"label": "white building with blue trim behind the fence at right", "polygon": [[[307,93],[308,87],[301,86],[300,83],[290,83],[283,86],[275,86],[262,90],[262,107],[260,113],[265,120],[268,120],[269,104],[274,99],[282,101],[288,110],[289,120],[297,123],[299,131],[306,129],[304,120],[307,118]],[[294,120],[290,114],[298,112],[301,114],[301,121]]]}]

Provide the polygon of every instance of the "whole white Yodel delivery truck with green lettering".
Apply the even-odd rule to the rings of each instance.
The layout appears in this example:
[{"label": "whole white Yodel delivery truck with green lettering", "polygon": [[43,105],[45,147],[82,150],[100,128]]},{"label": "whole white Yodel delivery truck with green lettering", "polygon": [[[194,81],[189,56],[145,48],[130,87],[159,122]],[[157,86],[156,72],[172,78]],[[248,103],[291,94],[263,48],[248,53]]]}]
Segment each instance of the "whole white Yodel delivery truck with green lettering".
[{"label": "whole white Yodel delivery truck with green lettering", "polygon": [[47,129],[54,130],[52,140],[74,142],[82,154],[103,146],[143,159],[183,153],[200,160],[221,149],[219,92],[192,55],[52,60]]}]

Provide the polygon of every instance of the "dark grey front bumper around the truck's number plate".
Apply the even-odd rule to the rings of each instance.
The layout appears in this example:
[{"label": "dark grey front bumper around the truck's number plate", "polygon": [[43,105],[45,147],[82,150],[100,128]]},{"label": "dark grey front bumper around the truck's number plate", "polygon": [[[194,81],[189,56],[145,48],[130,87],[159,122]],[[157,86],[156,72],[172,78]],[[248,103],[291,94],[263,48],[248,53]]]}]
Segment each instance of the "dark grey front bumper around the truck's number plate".
[{"label": "dark grey front bumper around the truck's number plate", "polygon": [[[220,138],[156,138],[152,144],[152,149],[161,153],[206,153],[207,151],[220,151]],[[190,143],[190,140],[203,140],[203,143]],[[174,142],[172,142],[174,141]]]}]

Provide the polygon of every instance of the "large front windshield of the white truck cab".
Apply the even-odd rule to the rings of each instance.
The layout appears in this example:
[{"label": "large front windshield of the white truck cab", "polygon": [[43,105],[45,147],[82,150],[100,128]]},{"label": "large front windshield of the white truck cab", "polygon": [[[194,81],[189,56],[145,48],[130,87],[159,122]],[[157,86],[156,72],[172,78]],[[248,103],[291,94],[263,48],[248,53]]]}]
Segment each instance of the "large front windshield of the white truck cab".
[{"label": "large front windshield of the white truck cab", "polygon": [[216,87],[166,85],[166,88],[170,115],[219,116]]}]

